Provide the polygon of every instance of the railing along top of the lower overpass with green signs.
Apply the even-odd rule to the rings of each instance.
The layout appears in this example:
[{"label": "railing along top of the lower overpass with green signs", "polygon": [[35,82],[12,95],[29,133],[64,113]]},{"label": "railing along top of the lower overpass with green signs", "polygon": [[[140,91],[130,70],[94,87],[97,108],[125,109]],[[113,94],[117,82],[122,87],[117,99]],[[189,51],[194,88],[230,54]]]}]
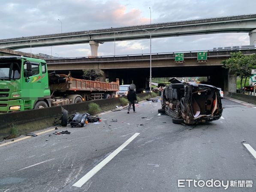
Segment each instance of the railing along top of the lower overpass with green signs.
[{"label": "railing along top of the lower overpass with green signs", "polygon": [[[200,50],[201,52],[202,50]],[[203,50],[205,51],[205,50]],[[227,58],[230,57],[230,53],[241,51],[244,55],[256,54],[256,48],[254,49],[245,49],[245,50],[226,50],[226,51],[207,51],[208,58]],[[191,51],[184,52],[184,58],[197,58],[197,52]],[[166,52],[166,53],[152,53],[152,60],[167,60],[175,59],[175,52]],[[80,58],[54,58],[54,59],[45,59],[48,65],[51,64],[79,64],[79,63],[99,63],[99,62],[125,62],[125,61],[149,61],[150,54],[143,55],[118,55],[118,56],[100,56],[100,57],[80,57]]]}]

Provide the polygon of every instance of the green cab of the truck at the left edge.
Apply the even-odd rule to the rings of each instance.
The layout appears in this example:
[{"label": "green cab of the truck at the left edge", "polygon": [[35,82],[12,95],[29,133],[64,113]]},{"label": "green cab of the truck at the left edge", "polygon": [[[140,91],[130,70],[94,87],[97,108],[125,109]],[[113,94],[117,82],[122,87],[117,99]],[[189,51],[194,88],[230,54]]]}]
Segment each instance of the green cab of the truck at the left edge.
[{"label": "green cab of the truck at the left edge", "polygon": [[49,107],[50,97],[44,60],[0,57],[0,113]]}]

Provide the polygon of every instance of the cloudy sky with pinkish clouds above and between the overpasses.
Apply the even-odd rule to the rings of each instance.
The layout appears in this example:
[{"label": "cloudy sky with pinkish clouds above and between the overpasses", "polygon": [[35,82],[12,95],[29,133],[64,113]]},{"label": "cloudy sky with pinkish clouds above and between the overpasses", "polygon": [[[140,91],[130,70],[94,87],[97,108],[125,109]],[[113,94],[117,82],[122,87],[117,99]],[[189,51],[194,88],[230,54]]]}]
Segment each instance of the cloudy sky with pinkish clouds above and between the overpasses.
[{"label": "cloudy sky with pinkish clouds above and between the overpasses", "polygon": [[[256,13],[256,0],[1,0],[0,38],[102,29],[177,20]],[[192,35],[152,40],[152,52],[173,52],[247,45],[247,33]],[[149,40],[118,41],[116,55],[149,52]],[[20,49],[30,52],[30,49]],[[52,50],[52,51],[51,51]],[[89,44],[33,48],[60,57],[90,55]],[[114,55],[114,42],[99,45],[98,55]]]}]

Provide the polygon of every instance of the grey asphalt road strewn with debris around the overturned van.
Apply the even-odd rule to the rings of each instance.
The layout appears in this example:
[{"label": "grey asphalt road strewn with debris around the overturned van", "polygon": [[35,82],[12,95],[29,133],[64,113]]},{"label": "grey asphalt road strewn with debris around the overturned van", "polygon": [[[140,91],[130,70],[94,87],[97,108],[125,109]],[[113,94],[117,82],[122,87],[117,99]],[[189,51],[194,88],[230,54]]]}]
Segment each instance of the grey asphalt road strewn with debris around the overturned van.
[{"label": "grey asphalt road strewn with debris around the overturned van", "polygon": [[[244,143],[256,150],[256,107],[222,102],[223,118],[203,125],[173,124],[169,116],[158,115],[160,102],[142,102],[137,113],[109,112],[99,124],[57,130],[70,135],[50,131],[0,145],[0,191],[225,191],[188,183],[178,187],[178,179],[213,179],[252,180],[252,188],[226,191],[255,192],[256,158]],[[126,146],[117,153],[120,145]],[[95,175],[73,186],[88,172]]]}]

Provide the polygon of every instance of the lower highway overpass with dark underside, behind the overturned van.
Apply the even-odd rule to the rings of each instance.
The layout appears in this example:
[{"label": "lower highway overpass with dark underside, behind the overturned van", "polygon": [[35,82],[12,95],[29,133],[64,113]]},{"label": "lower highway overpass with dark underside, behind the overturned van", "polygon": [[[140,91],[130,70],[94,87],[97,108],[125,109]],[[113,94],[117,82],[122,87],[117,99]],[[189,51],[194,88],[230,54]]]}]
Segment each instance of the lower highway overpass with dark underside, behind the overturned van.
[{"label": "lower highway overpass with dark underside, behind the overturned van", "polygon": [[[208,76],[213,85],[224,91],[236,91],[236,76],[223,68],[221,61],[238,50],[208,51],[207,62],[197,62],[197,52],[184,52],[184,63],[175,63],[175,53],[152,54],[152,77]],[[256,53],[256,49],[240,50],[245,55]],[[81,78],[82,69],[96,69],[102,73],[101,81],[123,79],[124,84],[132,82],[148,86],[150,55],[123,55],[111,57],[55,58],[45,59],[48,70],[69,73]]]}]

